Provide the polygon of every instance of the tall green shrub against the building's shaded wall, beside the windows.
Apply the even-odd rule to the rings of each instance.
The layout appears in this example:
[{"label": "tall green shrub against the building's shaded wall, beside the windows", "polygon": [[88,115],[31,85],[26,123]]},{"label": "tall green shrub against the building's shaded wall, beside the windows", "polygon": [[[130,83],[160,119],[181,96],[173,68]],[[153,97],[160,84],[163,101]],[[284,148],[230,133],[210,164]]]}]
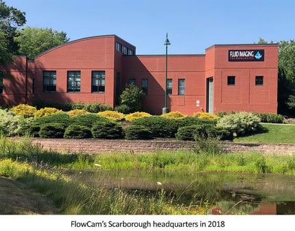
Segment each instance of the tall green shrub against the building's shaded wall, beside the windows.
[{"label": "tall green shrub against the building's shaded wall, beside the windows", "polygon": [[142,109],[144,96],[145,93],[141,88],[134,84],[129,84],[120,95],[120,103],[127,105],[130,108],[130,112],[138,112]]}]

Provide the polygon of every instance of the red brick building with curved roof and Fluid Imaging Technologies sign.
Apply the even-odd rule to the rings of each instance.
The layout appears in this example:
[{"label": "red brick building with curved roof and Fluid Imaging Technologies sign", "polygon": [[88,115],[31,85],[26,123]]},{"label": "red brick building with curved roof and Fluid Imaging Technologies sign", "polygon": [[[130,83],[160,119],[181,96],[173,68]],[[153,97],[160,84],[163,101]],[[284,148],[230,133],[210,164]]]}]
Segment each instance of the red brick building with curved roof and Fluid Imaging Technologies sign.
[{"label": "red brick building with curved roof and Fluid Imaging Technologies sign", "polygon": [[[164,47],[163,47],[164,49]],[[193,112],[277,108],[278,45],[213,45],[204,55],[168,55],[167,108]],[[126,84],[147,93],[144,107],[161,114],[165,55],[137,56],[118,36],[82,38],[40,54],[14,58],[0,79],[0,105],[33,99],[93,102],[115,107]]]}]

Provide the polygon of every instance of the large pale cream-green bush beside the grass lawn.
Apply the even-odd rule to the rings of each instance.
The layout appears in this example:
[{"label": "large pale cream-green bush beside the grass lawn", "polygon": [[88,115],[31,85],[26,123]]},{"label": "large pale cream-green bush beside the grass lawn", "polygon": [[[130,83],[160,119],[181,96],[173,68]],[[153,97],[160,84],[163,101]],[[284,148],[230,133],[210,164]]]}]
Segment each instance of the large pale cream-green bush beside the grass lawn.
[{"label": "large pale cream-green bush beside the grass lawn", "polygon": [[217,127],[233,132],[234,136],[253,134],[261,130],[260,118],[251,112],[227,114],[217,121]]}]

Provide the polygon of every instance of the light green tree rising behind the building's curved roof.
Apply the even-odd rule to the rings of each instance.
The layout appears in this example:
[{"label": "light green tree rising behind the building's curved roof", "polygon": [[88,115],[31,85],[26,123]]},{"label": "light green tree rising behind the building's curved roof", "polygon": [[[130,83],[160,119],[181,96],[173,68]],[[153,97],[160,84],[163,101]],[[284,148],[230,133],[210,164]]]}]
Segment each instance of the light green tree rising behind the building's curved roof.
[{"label": "light green tree rising behind the building's curved roof", "polygon": [[68,42],[69,38],[65,32],[51,28],[25,27],[14,40],[19,43],[19,54],[33,60],[38,54]]}]

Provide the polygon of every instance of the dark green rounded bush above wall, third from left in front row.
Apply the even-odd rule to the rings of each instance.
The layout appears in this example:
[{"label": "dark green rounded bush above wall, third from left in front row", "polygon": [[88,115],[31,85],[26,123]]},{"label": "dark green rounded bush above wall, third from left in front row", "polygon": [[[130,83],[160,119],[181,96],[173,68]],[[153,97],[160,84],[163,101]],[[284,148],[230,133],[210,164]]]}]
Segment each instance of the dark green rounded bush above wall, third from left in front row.
[{"label": "dark green rounded bush above wall, third from left in front row", "polygon": [[115,121],[98,121],[91,132],[94,138],[123,138],[123,129]]}]

